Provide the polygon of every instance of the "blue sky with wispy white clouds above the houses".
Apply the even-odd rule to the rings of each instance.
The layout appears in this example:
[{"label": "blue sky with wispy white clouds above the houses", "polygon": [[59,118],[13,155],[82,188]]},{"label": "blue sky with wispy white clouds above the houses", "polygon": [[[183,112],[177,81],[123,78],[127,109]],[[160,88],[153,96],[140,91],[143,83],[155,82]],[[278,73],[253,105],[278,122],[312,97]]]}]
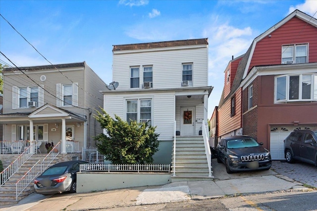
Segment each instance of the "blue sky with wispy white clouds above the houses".
[{"label": "blue sky with wispy white clouds above the houses", "polygon": [[[317,0],[0,0],[0,14],[48,61],[86,61],[106,84],[112,45],[209,38],[209,118],[232,56],[295,9],[317,18]],[[50,64],[2,17],[0,51],[18,67]]]}]

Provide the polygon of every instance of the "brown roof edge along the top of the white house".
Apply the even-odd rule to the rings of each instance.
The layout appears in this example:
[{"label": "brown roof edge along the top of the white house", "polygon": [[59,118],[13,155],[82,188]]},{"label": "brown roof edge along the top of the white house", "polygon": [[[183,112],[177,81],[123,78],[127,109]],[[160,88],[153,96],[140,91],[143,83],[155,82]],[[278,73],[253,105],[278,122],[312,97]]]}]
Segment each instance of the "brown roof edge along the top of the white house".
[{"label": "brown roof edge along the top of the white house", "polygon": [[193,40],[180,40],[180,41],[148,42],[148,43],[137,43],[137,44],[112,45],[113,46],[112,51],[150,49],[150,48],[160,48],[160,47],[175,47],[175,46],[199,45],[199,44],[208,44],[208,38],[193,39]]}]

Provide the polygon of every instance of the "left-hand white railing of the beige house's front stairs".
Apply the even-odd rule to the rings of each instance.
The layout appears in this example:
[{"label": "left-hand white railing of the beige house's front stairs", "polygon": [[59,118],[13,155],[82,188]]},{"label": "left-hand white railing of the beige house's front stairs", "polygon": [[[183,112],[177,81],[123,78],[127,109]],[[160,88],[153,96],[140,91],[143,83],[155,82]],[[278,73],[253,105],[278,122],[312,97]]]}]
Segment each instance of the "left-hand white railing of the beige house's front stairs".
[{"label": "left-hand white railing of the beige house's front stairs", "polygon": [[19,168],[34,154],[33,146],[35,143],[32,143],[24,152],[15,159],[7,168],[3,169],[0,173],[0,187],[7,181],[9,178],[16,172],[19,171]]}]

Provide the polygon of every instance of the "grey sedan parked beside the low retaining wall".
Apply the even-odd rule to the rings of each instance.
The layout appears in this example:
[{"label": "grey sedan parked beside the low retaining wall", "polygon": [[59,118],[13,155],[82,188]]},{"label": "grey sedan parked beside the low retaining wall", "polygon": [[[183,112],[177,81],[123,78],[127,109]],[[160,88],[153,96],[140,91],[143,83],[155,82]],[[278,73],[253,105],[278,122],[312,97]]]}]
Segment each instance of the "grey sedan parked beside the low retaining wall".
[{"label": "grey sedan parked beside the low retaining wall", "polygon": [[34,180],[36,193],[49,195],[69,191],[76,192],[76,173],[80,164],[89,164],[86,161],[66,161],[57,163],[46,169]]}]

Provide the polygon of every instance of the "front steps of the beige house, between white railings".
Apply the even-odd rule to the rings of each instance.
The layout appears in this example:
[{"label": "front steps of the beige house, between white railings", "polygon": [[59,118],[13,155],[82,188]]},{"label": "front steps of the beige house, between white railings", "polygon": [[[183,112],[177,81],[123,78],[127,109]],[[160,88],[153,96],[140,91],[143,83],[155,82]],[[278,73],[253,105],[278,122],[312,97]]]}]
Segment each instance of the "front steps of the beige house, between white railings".
[{"label": "front steps of the beige house, between white railings", "polygon": [[[22,176],[31,169],[36,162],[39,160],[43,160],[47,156],[47,154],[34,154],[29,158],[18,170],[17,173],[13,174],[8,181],[5,182],[0,187],[0,204],[8,205],[15,204],[19,202],[24,197],[34,192],[33,182],[31,182],[28,187],[24,189],[24,191],[18,196],[16,200],[16,186],[15,183],[22,178]],[[57,163],[57,159],[55,159],[51,165]]]}]

